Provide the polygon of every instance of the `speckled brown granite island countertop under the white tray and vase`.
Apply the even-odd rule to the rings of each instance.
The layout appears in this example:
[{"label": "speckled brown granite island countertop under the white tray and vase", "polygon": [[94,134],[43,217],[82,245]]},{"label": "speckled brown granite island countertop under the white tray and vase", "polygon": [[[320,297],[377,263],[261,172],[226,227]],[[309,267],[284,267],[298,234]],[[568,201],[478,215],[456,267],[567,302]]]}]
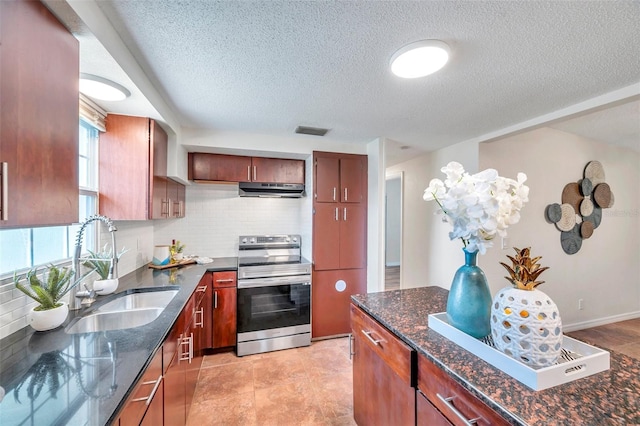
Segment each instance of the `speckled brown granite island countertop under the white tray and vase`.
[{"label": "speckled brown granite island countertop under the white tray and vase", "polygon": [[534,391],[430,330],[448,291],[422,287],[352,296],[352,301],[514,425],[640,424],[640,361],[607,349],[607,371]]}]

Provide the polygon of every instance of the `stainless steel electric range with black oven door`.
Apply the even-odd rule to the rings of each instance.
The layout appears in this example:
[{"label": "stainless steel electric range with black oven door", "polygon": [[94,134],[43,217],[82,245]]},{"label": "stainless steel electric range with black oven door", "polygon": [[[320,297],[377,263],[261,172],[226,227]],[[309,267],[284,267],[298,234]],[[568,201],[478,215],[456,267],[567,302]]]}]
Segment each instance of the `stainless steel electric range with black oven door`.
[{"label": "stainless steel electric range with black oven door", "polygon": [[300,235],[238,244],[238,356],[311,344],[311,262]]}]

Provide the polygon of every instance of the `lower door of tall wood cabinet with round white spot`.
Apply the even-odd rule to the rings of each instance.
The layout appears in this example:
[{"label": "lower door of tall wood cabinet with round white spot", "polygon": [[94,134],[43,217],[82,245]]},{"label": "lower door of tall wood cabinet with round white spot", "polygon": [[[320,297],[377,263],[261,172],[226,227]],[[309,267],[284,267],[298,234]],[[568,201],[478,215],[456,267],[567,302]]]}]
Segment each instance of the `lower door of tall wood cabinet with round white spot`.
[{"label": "lower door of tall wood cabinet with round white spot", "polygon": [[351,295],[367,292],[367,271],[314,271],[311,292],[312,337],[349,333]]}]

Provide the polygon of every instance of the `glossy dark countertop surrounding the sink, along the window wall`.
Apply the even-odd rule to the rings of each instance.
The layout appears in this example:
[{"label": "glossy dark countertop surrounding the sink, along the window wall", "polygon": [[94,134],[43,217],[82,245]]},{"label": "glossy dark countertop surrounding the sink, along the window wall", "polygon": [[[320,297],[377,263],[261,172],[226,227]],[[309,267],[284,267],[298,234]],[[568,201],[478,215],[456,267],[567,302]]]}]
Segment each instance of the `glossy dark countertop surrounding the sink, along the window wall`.
[{"label": "glossy dark countertop surrounding the sink, along the window wall", "polygon": [[[0,340],[0,386],[6,392],[0,402],[0,424],[110,424],[203,274],[236,269],[235,257],[164,270],[145,266],[120,277],[116,294],[99,296],[93,306],[71,312],[63,326],[47,332],[25,327]],[[152,287],[179,290],[153,322],[125,330],[65,333],[75,317],[92,312],[118,293]]]}]

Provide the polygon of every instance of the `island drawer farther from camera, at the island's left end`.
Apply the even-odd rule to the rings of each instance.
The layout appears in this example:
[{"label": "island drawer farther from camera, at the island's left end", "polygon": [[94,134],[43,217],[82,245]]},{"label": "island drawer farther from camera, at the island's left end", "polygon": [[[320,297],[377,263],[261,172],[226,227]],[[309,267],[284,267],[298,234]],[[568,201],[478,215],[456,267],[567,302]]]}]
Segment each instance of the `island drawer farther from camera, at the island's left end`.
[{"label": "island drawer farther from camera, at the island's left end", "polygon": [[351,305],[351,328],[402,380],[413,386],[411,358],[415,352],[360,308]]}]

